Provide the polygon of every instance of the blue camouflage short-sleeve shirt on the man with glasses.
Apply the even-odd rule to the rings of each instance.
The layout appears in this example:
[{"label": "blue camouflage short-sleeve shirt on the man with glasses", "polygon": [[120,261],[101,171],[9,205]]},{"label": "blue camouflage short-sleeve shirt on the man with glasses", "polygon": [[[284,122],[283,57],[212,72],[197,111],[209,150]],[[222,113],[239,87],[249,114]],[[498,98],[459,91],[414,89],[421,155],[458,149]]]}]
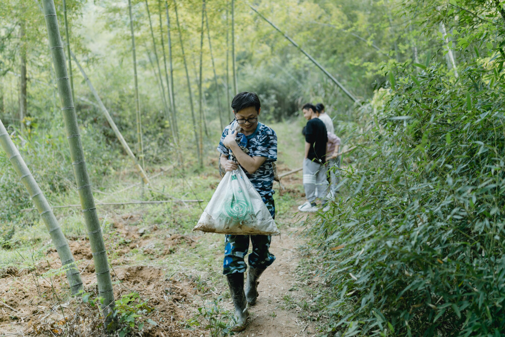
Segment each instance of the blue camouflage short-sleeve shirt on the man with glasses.
[{"label": "blue camouflage short-sleeve shirt on the man with glasses", "polygon": [[[225,156],[231,154],[231,150],[223,145],[229,127],[228,125],[224,128],[218,146],[218,151]],[[258,123],[256,130],[246,138],[246,149],[249,151],[247,155],[250,157],[266,157],[267,159],[255,173],[250,174],[245,169],[244,172],[263,199],[272,199],[274,195],[274,169],[272,163],[277,160],[277,135],[272,128]]]}]

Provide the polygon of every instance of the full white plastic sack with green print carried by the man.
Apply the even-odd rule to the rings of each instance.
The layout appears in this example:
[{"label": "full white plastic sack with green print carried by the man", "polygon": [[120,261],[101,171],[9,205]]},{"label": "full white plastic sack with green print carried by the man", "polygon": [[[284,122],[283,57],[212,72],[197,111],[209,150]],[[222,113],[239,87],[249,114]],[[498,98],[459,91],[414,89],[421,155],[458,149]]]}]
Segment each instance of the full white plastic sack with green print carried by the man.
[{"label": "full white plastic sack with green print carried by the man", "polygon": [[280,234],[244,171],[226,172],[193,230],[224,234]]}]

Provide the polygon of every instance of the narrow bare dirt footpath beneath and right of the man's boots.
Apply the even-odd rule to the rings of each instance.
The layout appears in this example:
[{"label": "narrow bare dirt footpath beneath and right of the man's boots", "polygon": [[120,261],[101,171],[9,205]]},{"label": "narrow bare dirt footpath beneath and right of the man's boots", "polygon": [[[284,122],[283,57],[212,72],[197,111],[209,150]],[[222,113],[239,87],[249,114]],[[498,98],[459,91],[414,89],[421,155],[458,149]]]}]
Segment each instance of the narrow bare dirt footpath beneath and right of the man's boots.
[{"label": "narrow bare dirt footpath beneath and right of the man's boots", "polygon": [[[295,290],[295,268],[299,262],[297,247],[304,244],[297,232],[300,228],[290,227],[283,230],[281,237],[272,238],[271,252],[276,256],[272,266],[267,268],[260,278],[259,297],[255,306],[249,308],[251,319],[248,327],[239,336],[312,336],[315,327],[312,321],[300,318],[298,305],[286,304],[285,297],[294,303],[300,303],[304,297]],[[231,307],[231,302],[229,303]]]}]

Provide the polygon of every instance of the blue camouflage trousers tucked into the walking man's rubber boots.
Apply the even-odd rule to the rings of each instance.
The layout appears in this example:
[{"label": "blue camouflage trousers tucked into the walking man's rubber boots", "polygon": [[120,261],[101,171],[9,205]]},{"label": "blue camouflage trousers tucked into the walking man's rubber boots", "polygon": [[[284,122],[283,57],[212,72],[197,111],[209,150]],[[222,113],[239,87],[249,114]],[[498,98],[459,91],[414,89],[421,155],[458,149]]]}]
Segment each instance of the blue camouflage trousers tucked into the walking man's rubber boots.
[{"label": "blue camouflage trousers tucked into the walking man's rubber boots", "polygon": [[[275,219],[275,204],[273,199],[263,200],[267,209]],[[266,268],[275,261],[275,256],[268,251],[271,235],[230,235],[225,237],[223,275],[243,273],[247,269],[244,258],[249,250],[249,237],[252,252],[249,254],[249,266]]]}]

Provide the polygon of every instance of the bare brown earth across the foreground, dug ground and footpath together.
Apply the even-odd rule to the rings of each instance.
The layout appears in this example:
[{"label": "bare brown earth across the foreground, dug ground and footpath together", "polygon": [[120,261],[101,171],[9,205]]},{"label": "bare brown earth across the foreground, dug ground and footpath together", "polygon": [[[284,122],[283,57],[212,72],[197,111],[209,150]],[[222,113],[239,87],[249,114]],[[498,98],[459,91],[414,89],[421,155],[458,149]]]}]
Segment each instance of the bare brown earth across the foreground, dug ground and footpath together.
[{"label": "bare brown earth across the foreground, dug ground and footpath together", "polygon": [[[300,191],[294,188],[301,173],[283,178],[284,193],[296,197]],[[300,199],[301,201],[301,199]],[[281,229],[281,236],[274,236],[271,251],[276,261],[260,278],[259,298],[251,314],[247,328],[238,336],[315,336],[313,321],[304,316],[301,304],[307,294],[296,287],[295,268],[300,261],[298,247],[305,243],[299,235],[300,217],[292,205],[289,227]],[[106,237],[111,258],[111,274],[115,284],[115,297],[136,292],[153,311],[147,316],[157,325],[145,324],[141,336],[207,336],[205,324],[189,329],[186,322],[195,317],[201,299],[226,295],[228,288],[224,276],[212,284],[201,282],[184,273],[168,275],[160,267],[162,260],[180,249],[191,249],[199,242],[200,234],[180,235],[156,225],[137,224],[142,213],[111,214],[113,229]],[[149,235],[145,235],[149,232]],[[222,238],[216,247],[221,246]],[[160,243],[162,245],[160,245]],[[85,292],[91,299],[97,293],[96,278],[88,240],[84,237],[69,238],[70,248],[78,261]],[[161,246],[161,248],[160,248]],[[133,260],[131,252],[141,252],[145,259]],[[212,256],[213,266],[220,266],[222,252],[216,248]],[[177,261],[173,261],[177,263]],[[9,268],[0,270],[0,336],[102,336],[106,335],[99,319],[97,306],[83,303],[81,298],[68,296],[65,275],[44,273],[61,267],[57,253],[48,249],[44,259],[30,269]],[[205,275],[205,271],[204,275]],[[202,284],[204,284],[202,286]],[[300,287],[301,288],[301,287]],[[67,294],[67,295],[65,295]],[[229,295],[224,296],[224,307],[233,310]],[[310,318],[310,317],[309,317]]]}]

